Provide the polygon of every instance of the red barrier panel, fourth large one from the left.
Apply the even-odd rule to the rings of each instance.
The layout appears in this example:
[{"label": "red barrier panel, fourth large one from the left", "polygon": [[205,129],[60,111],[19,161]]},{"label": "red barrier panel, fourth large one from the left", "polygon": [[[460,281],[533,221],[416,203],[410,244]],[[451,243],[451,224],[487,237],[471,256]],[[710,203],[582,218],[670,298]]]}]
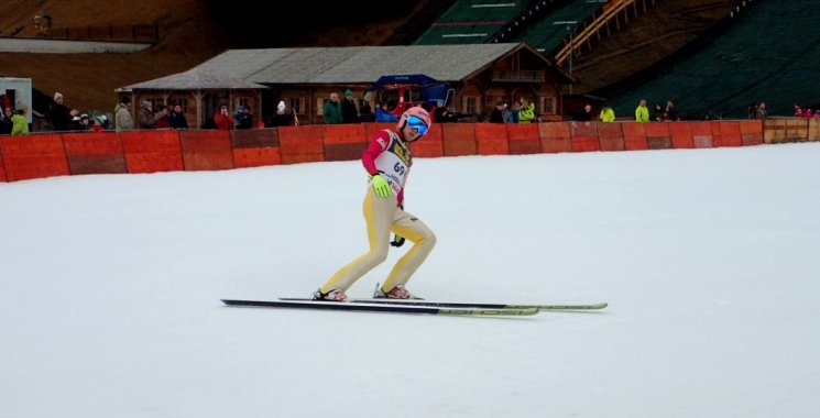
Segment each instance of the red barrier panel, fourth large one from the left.
[{"label": "red barrier panel, fourth large one from the left", "polygon": [[179,131],[179,141],[186,172],[233,168],[229,131]]}]

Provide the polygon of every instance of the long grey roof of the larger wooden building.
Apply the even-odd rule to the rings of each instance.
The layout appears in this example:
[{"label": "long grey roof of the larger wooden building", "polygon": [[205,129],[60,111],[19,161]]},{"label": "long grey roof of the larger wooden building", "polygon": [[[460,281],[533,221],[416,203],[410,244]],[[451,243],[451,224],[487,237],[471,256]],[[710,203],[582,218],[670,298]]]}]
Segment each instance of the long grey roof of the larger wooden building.
[{"label": "long grey roof of the larger wooden building", "polygon": [[385,74],[461,81],[520,50],[528,50],[567,81],[571,79],[521,43],[230,50],[196,68],[264,84],[367,84]]}]

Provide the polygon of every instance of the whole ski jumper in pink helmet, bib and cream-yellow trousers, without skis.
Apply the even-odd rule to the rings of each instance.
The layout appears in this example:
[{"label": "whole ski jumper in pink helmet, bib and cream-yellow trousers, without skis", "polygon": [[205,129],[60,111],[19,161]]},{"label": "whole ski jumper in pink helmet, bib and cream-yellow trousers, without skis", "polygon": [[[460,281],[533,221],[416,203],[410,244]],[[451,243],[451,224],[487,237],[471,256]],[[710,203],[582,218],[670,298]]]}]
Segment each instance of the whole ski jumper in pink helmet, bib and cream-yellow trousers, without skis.
[{"label": "whole ski jumper in pink helmet, bib and cream-yellow trousers, without skis", "polygon": [[[362,210],[368,227],[370,250],[339,270],[313,295],[316,300],[346,301],[347,289],[361,276],[387,258],[391,245],[401,246],[405,238],[413,248],[395,264],[374,297],[411,299],[405,284],[436,245],[436,235],[422,220],[404,211],[404,187],[413,165],[409,144],[430,129],[430,116],[420,107],[407,109],[396,130],[375,134],[362,155],[370,176]],[[391,231],[395,234],[390,242]]]}]

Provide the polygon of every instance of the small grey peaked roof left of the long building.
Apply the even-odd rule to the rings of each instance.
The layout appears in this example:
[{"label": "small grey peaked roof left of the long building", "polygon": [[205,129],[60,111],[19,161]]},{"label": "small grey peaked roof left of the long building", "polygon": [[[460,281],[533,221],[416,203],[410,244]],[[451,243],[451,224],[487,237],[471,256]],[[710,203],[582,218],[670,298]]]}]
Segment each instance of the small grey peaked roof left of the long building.
[{"label": "small grey peaked roof left of the long building", "polygon": [[255,90],[266,89],[255,82],[227,76],[220,73],[211,73],[199,67],[187,72],[172,74],[166,77],[138,82],[135,85],[118,88],[117,91],[131,90]]}]

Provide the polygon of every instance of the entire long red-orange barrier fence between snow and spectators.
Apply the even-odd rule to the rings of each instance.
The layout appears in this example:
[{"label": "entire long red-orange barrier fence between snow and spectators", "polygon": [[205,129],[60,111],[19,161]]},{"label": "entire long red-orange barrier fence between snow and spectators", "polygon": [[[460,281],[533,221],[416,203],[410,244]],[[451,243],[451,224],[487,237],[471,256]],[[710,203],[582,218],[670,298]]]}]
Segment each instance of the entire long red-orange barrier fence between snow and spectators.
[{"label": "entire long red-orange barrier fence between snow and spectators", "polygon": [[[361,157],[394,123],[252,130],[66,132],[0,136],[0,182],[80,174],[215,170]],[[819,119],[682,122],[437,123],[416,157],[710,148],[820,141]]]}]

